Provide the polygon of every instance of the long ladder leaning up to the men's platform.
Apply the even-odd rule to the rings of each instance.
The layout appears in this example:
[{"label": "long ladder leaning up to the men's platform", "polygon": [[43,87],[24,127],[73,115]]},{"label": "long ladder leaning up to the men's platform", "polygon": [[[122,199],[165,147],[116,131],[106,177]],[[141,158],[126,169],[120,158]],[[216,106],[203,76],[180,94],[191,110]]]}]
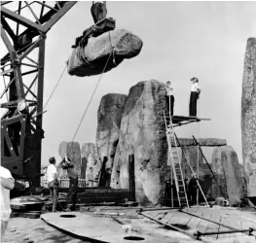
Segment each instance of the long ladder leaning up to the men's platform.
[{"label": "long ladder leaning up to the men's platform", "polygon": [[[165,112],[164,112],[164,118],[165,118]],[[175,181],[175,187],[177,191],[179,206],[187,206],[189,207],[187,192],[186,192],[186,186],[184,183],[182,168],[181,168],[181,159],[178,153],[177,149],[177,141],[175,138],[175,133],[173,131],[173,124],[171,121],[171,117],[169,118],[169,124],[167,125],[166,119],[165,119],[165,134],[167,138],[168,143],[168,155],[171,162],[173,177]],[[174,144],[174,146],[173,146]],[[174,151],[172,151],[172,149]],[[171,172],[171,173],[172,173]]]}]

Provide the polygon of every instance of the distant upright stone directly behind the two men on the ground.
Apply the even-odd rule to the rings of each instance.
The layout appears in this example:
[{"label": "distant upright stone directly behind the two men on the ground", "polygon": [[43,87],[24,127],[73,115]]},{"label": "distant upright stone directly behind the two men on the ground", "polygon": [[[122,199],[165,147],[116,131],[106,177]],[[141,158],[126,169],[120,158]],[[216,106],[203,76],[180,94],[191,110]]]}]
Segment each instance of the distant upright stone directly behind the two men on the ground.
[{"label": "distant upright stone directly behind the two men on the ground", "polygon": [[81,149],[78,142],[61,142],[58,148],[61,159],[68,156],[76,166],[76,172],[81,174]]}]

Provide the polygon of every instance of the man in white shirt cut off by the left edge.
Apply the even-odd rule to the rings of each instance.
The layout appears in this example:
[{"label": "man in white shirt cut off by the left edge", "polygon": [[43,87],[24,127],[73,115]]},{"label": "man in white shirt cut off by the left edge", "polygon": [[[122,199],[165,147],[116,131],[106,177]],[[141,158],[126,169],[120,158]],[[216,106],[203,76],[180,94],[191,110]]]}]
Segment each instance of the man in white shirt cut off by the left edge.
[{"label": "man in white shirt cut off by the left edge", "polygon": [[8,225],[12,210],[10,206],[10,190],[15,188],[15,180],[11,172],[0,166],[0,180],[1,180],[1,242],[3,241],[4,233]]}]

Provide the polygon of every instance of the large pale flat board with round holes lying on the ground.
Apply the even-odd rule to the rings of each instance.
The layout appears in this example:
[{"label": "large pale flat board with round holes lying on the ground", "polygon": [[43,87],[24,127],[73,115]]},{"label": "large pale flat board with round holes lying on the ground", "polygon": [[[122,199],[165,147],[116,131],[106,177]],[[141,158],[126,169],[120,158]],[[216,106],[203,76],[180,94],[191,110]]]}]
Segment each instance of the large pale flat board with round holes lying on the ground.
[{"label": "large pale flat board with round holes lying on the ground", "polygon": [[[153,236],[129,231],[130,226],[123,226],[111,218],[97,218],[85,213],[49,213],[41,216],[47,224],[79,237],[118,243],[127,241],[126,237],[140,237],[140,242],[169,242],[165,235]],[[134,241],[134,240],[133,240]]]}]

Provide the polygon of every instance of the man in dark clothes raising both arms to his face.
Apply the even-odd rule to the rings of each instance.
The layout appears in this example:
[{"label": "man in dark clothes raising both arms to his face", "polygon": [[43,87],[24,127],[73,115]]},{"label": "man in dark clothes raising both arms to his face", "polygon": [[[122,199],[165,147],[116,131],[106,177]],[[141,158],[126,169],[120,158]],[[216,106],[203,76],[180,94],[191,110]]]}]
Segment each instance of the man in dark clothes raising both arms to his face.
[{"label": "man in dark clothes raising both arms to his face", "polygon": [[[67,211],[75,211],[78,191],[78,173],[75,171],[75,164],[71,162],[69,157],[63,158],[61,167],[62,169],[67,170],[67,175],[69,178],[69,190],[67,192]],[[71,206],[68,207],[68,204],[71,204]]]}]

